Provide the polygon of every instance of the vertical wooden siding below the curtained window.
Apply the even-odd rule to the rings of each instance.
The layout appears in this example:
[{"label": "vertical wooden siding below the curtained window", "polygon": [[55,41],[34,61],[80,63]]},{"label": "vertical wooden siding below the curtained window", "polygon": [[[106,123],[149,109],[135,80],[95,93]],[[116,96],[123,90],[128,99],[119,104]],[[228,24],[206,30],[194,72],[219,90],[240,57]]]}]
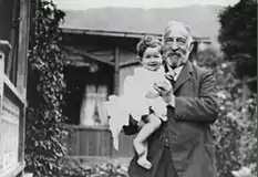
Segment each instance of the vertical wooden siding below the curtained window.
[{"label": "vertical wooden siding below the curtained window", "polygon": [[113,147],[111,132],[103,127],[65,125],[69,136],[65,140],[70,157],[132,157],[133,136],[120,134],[118,150]]}]

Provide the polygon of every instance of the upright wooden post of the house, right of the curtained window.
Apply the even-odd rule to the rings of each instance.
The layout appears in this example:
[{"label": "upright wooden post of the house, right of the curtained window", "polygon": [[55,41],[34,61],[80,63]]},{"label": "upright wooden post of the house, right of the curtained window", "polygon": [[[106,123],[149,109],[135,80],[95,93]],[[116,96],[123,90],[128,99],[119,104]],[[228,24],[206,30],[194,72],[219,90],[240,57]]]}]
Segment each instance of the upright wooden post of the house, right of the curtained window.
[{"label": "upright wooden post of the house, right of the curtained window", "polygon": [[115,45],[115,72],[114,72],[114,94],[120,94],[120,49],[118,45]]}]

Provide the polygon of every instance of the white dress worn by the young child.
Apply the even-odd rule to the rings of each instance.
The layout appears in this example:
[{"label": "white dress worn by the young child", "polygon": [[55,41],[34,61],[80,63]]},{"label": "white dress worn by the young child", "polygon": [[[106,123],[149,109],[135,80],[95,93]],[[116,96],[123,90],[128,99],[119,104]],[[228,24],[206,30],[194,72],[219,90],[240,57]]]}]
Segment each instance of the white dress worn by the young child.
[{"label": "white dress worn by the young child", "polygon": [[147,115],[151,107],[163,121],[167,119],[166,103],[153,87],[155,82],[165,81],[164,74],[163,66],[155,72],[144,67],[136,67],[134,75],[125,79],[124,94],[109,97],[105,104],[116,149],[118,149],[118,134],[123,125],[128,125],[130,114],[134,119],[141,121],[142,115]]}]

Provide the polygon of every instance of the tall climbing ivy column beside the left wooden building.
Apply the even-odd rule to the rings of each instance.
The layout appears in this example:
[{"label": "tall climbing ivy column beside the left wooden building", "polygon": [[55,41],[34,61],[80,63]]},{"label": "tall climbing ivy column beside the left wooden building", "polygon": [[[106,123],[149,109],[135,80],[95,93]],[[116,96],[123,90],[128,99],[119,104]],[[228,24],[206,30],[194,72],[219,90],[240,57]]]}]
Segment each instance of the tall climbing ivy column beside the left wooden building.
[{"label": "tall climbing ivy column beside the left wooden building", "polygon": [[65,88],[64,55],[58,44],[64,12],[52,1],[32,0],[28,69],[25,169],[35,177],[55,177],[61,169],[65,133],[61,106]]}]

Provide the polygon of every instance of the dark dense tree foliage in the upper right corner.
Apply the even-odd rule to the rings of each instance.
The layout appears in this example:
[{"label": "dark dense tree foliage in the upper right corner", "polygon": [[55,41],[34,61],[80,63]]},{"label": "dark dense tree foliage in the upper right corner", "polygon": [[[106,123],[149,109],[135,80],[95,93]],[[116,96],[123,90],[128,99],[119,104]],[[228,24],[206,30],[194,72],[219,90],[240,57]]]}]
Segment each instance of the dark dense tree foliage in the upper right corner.
[{"label": "dark dense tree foliage in the upper right corner", "polygon": [[[257,76],[257,3],[240,0],[219,14],[219,42],[226,59],[236,63],[236,76]],[[255,83],[254,83],[255,82]],[[257,92],[257,82],[249,86]]]}]

